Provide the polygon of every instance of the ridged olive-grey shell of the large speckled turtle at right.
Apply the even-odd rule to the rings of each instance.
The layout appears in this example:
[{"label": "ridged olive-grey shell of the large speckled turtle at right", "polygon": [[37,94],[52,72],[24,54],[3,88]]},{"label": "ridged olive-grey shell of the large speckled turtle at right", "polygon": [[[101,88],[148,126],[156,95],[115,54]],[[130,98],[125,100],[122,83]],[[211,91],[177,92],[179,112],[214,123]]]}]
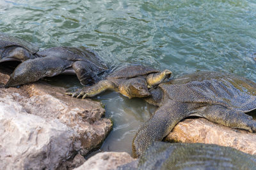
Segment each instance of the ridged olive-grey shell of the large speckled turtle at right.
[{"label": "ridged olive-grey shell of the large speckled turtle at right", "polygon": [[244,113],[256,109],[256,83],[230,73],[200,71],[159,87],[166,97],[182,103],[220,104]]}]

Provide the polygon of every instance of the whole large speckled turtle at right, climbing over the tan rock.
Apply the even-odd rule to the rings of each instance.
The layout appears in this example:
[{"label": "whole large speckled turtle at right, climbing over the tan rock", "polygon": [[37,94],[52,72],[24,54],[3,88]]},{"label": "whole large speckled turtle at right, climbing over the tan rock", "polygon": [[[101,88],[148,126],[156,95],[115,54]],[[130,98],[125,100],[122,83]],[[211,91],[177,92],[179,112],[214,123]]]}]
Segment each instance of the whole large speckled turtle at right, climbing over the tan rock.
[{"label": "whole large speckled turtle at right, climbing over the tan rock", "polygon": [[136,133],[132,143],[134,157],[154,141],[161,141],[189,116],[256,132],[256,121],[245,114],[256,108],[256,83],[246,78],[200,71],[161,83],[150,93],[152,96],[146,101],[159,108]]}]

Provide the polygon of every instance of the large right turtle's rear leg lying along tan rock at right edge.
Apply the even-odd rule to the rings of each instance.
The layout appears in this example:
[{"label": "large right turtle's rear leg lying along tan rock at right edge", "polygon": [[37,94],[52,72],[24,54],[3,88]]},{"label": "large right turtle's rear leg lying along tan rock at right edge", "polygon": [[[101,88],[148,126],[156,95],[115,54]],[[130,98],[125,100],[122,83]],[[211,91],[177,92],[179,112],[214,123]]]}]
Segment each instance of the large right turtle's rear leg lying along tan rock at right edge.
[{"label": "large right turtle's rear leg lying along tan rock at right edge", "polygon": [[224,106],[214,105],[205,106],[205,110],[201,114],[204,118],[217,124],[244,129],[249,132],[256,132],[256,121],[241,111],[230,110]]}]

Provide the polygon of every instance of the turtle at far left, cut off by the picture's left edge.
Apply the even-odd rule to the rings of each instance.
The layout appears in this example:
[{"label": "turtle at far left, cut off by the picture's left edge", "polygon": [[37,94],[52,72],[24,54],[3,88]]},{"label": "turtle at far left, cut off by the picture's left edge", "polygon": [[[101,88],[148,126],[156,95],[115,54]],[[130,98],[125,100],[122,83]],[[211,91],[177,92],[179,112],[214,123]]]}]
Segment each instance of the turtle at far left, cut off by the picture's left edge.
[{"label": "turtle at far left, cut off by the picture's left edge", "polygon": [[0,32],[0,62],[18,60],[23,62],[38,57],[36,45]]}]

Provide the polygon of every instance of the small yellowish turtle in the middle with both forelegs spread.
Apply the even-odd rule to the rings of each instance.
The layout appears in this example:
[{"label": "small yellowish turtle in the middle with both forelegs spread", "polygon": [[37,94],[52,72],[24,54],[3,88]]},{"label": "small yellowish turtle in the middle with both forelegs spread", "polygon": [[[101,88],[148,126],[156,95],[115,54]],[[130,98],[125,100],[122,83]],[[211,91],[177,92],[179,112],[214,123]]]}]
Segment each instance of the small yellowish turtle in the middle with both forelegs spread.
[{"label": "small yellowish turtle in the middle with both forelegs spread", "polygon": [[122,95],[132,97],[150,96],[148,88],[154,87],[162,81],[170,78],[172,71],[165,69],[158,71],[142,65],[125,66],[101,80],[95,85],[83,87],[77,92],[69,93],[72,97],[93,97],[105,90],[118,90]]}]

